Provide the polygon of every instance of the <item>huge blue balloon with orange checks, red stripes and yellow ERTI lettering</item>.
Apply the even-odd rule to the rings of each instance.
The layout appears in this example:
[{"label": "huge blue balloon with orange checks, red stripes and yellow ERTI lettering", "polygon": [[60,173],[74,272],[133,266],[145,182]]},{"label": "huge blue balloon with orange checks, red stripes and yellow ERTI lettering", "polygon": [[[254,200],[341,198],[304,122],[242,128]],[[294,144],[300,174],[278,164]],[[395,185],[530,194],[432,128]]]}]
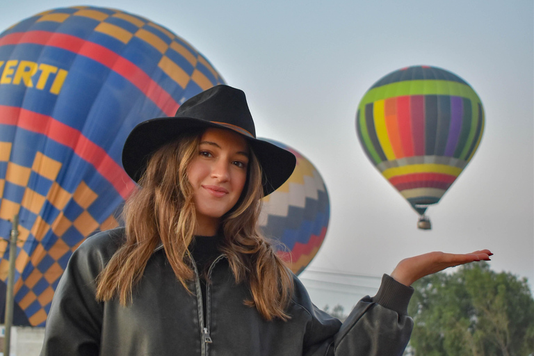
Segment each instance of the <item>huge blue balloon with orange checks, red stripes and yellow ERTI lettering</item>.
[{"label": "huge blue balloon with orange checks, red stripes and yellow ERTI lettering", "polygon": [[18,214],[15,325],[44,325],[72,252],[118,225],[129,131],[219,83],[191,44],[120,10],[57,8],[0,34],[0,280]]}]

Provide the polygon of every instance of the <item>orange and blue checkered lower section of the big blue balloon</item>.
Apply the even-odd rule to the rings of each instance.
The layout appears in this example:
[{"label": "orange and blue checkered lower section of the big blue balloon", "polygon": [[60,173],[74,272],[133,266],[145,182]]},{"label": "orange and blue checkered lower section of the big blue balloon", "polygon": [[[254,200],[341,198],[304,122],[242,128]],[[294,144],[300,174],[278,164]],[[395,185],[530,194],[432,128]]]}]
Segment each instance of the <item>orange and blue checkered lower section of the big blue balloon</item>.
[{"label": "orange and blue checkered lower section of the big blue balloon", "polygon": [[[0,218],[12,220],[17,213],[25,217],[19,225],[15,300],[26,312],[31,325],[44,325],[54,290],[72,252],[92,232],[110,229],[119,223],[113,215],[104,219],[91,215],[89,210],[98,195],[85,181],[73,192],[56,182],[62,163],[37,152],[31,167],[17,165],[6,160],[10,148],[11,143],[0,143],[0,163],[6,167],[5,177],[0,179]],[[29,182],[36,179],[49,181],[47,192],[43,188],[40,191],[28,188]],[[19,200],[14,199],[15,196],[3,196],[7,184],[19,187]],[[56,213],[50,214],[51,210]],[[0,279],[6,282],[9,236],[0,237],[3,238],[0,251],[4,251]]]}]

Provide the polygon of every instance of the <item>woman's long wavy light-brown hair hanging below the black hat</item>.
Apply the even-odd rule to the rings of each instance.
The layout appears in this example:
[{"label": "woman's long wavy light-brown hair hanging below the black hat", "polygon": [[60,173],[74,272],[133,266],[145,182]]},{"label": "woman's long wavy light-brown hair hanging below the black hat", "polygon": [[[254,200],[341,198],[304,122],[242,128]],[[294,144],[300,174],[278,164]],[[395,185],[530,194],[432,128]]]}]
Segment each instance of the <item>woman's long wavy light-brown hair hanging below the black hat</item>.
[{"label": "woman's long wavy light-brown hair hanging below the black hat", "polygon": [[[139,187],[124,205],[126,240],[97,278],[97,300],[119,298],[126,306],[160,244],[179,282],[188,289],[195,277],[189,245],[197,225],[188,168],[198,154],[202,131],[190,131],[164,145],[149,159]],[[222,217],[220,247],[237,283],[246,282],[252,300],[266,320],[286,321],[293,278],[258,227],[263,187],[261,166],[250,149],[246,184],[236,205]],[[189,289],[188,289],[189,290]]]}]

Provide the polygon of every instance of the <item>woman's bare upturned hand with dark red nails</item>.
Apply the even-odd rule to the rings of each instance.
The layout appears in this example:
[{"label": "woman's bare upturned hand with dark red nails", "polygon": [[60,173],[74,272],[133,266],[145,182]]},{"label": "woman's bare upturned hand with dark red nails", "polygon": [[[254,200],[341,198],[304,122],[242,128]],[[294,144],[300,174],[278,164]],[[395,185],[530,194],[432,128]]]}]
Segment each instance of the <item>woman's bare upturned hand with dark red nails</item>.
[{"label": "woman's bare upturned hand with dark red nails", "polygon": [[444,252],[430,252],[419,256],[403,259],[391,273],[397,282],[410,286],[419,278],[439,272],[445,268],[469,264],[473,261],[489,261],[492,252],[480,250],[467,254],[453,254]]}]

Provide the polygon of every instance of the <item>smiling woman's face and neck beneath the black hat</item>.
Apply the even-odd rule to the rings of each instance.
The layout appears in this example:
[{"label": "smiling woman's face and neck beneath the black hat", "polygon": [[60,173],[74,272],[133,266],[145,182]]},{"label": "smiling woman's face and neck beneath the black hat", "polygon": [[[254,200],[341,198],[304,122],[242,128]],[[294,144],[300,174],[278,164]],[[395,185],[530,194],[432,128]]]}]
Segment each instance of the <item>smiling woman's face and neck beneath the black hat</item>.
[{"label": "smiling woman's face and neck beneath the black hat", "polygon": [[195,234],[216,233],[220,217],[232,209],[247,180],[248,144],[225,129],[207,129],[188,170],[198,227]]}]

